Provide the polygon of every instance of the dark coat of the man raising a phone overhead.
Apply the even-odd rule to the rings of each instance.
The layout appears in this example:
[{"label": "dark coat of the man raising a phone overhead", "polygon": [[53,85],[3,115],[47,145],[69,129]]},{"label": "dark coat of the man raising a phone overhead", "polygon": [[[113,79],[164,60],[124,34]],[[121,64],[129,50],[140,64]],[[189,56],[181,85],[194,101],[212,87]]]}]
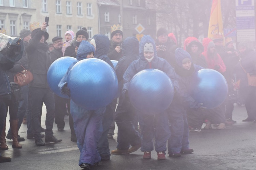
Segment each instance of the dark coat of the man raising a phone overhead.
[{"label": "dark coat of the man raising a phone overhead", "polygon": [[33,74],[33,81],[29,84],[32,87],[47,88],[47,71],[52,64],[49,47],[46,42],[40,43],[44,34],[39,30],[29,41],[26,48],[28,56],[28,68]]}]

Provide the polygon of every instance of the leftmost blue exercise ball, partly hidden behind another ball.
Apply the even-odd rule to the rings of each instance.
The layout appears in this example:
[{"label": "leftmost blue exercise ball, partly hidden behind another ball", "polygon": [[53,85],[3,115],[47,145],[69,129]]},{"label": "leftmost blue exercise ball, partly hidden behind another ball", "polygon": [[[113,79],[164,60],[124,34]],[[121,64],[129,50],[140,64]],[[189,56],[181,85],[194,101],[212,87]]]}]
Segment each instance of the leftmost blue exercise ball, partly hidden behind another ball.
[{"label": "leftmost blue exercise ball, partly hidden behind another ball", "polygon": [[58,84],[62,79],[62,77],[68,71],[69,66],[75,61],[76,61],[76,58],[74,57],[61,57],[55,60],[48,69],[48,72],[47,72],[48,85],[56,95],[62,98],[69,98],[69,97],[67,95],[61,94],[58,88]]}]

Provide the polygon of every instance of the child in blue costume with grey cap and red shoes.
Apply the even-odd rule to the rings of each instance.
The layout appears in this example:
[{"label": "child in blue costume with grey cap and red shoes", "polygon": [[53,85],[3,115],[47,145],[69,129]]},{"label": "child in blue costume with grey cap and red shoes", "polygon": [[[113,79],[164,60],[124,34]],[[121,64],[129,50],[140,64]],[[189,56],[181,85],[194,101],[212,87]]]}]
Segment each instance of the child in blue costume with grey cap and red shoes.
[{"label": "child in blue costume with grey cap and red shoes", "polygon": [[[133,61],[124,73],[124,86],[122,95],[126,96],[128,87],[133,76],[144,69],[159,69],[165,72],[172,80],[175,91],[179,91],[175,73],[171,65],[163,58],[157,57],[156,45],[149,35],[144,35],[140,41],[139,60]],[[123,97],[124,99],[127,97]],[[154,104],[154,103],[152,103]],[[139,114],[139,122],[142,134],[141,151],[144,152],[143,159],[151,158],[151,151],[154,149],[153,138],[155,137],[155,150],[158,160],[165,158],[166,142],[170,136],[167,113],[157,115]],[[156,122],[155,126],[154,123]],[[155,131],[154,131],[155,128]]]}]

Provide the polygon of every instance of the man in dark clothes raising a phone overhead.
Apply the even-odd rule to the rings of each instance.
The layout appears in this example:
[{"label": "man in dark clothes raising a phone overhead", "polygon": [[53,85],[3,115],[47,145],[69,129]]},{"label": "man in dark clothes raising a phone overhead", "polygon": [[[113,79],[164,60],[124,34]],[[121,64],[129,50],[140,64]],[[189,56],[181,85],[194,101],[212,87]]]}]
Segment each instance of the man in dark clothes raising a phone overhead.
[{"label": "man in dark clothes raising a phone overhead", "polygon": [[45,143],[41,137],[40,108],[42,102],[46,105],[46,130],[45,142],[61,142],[53,135],[53,122],[55,114],[54,94],[46,82],[46,75],[51,65],[51,56],[49,55],[49,46],[46,40],[49,34],[45,31],[46,22],[43,22],[41,28],[31,32],[31,40],[26,48],[28,55],[28,68],[33,74],[33,81],[29,84],[29,105],[31,112],[32,132],[35,138],[35,145],[44,146]]}]

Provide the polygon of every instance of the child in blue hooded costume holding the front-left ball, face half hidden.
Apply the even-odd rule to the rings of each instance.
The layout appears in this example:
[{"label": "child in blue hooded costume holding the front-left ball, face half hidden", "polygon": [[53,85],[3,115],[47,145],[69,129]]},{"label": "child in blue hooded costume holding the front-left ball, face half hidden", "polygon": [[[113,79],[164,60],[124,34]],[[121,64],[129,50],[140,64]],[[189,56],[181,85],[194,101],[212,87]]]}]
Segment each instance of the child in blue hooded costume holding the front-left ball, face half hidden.
[{"label": "child in blue hooded costume holding the front-left ball, face half hidden", "polygon": [[[95,48],[88,41],[82,41],[77,50],[76,62],[68,69],[66,75],[59,83],[59,89],[63,94],[70,96],[67,87],[67,76],[75,63],[86,58],[94,58]],[[106,107],[94,111],[77,106],[71,99],[70,113],[74,120],[74,130],[77,137],[77,146],[80,150],[79,166],[84,169],[95,167],[101,160],[97,150],[97,143],[102,133],[102,118]]]}]

